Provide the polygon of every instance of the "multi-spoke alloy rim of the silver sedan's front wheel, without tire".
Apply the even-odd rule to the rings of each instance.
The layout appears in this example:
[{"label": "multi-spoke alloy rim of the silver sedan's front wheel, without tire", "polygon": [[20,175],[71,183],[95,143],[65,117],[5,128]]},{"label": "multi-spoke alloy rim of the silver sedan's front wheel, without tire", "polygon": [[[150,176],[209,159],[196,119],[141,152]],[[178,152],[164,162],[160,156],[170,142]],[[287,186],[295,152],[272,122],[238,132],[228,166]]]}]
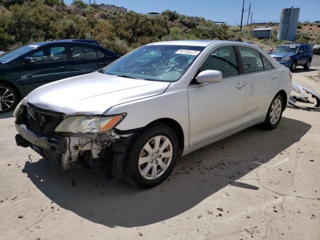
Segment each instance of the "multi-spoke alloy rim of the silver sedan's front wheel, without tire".
[{"label": "multi-spoke alloy rim of the silver sedan's front wheel, without tire", "polygon": [[141,176],[149,180],[158,178],[168,168],[172,153],[172,143],[166,136],[158,135],[149,139],[138,159]]}]

